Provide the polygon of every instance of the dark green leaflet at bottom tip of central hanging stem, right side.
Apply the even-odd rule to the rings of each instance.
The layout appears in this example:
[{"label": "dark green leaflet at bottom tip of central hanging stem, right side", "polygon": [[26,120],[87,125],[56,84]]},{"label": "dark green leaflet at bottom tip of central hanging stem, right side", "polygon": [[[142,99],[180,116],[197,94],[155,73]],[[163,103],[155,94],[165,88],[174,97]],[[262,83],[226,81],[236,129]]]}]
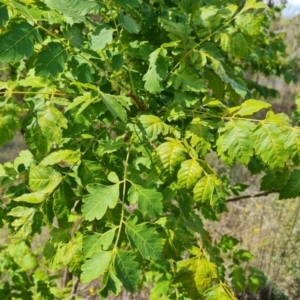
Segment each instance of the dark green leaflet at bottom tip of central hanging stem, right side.
[{"label": "dark green leaflet at bottom tip of central hanging stem, right side", "polygon": [[139,283],[141,268],[130,251],[118,250],[115,256],[115,270],[126,290],[133,293]]}]

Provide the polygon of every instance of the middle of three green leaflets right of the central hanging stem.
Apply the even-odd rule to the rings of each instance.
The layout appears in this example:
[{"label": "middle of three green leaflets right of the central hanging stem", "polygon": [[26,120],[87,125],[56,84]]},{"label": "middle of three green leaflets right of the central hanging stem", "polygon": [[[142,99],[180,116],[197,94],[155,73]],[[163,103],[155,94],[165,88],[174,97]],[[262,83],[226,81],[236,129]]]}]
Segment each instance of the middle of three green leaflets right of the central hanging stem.
[{"label": "middle of three green leaflets right of the central hanging stem", "polygon": [[133,248],[146,259],[159,259],[163,250],[163,239],[149,223],[136,225],[137,218],[126,222],[126,234]]}]

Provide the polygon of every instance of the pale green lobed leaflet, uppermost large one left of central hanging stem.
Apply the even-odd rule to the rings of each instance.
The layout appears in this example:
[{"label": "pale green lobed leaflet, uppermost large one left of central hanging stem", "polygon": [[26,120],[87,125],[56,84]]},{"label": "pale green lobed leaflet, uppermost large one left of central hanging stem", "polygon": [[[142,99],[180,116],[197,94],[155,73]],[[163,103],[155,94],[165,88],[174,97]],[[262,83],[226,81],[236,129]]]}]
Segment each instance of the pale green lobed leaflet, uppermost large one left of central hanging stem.
[{"label": "pale green lobed leaflet, uppermost large one left of central hanging stem", "polygon": [[119,184],[105,186],[102,184],[91,184],[87,186],[89,195],[83,198],[83,216],[87,221],[100,220],[106,213],[108,207],[114,208],[119,199]]}]

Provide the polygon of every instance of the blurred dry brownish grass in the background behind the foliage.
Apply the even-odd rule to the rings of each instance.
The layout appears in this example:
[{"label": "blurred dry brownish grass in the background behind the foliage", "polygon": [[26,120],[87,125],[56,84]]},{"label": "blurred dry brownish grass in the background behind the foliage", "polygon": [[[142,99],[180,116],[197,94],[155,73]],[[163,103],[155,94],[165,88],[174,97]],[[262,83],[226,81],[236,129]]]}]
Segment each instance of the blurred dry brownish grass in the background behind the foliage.
[{"label": "blurred dry brownish grass in the background behind the foliage", "polygon": [[[280,71],[282,75],[286,75],[290,72],[292,75],[289,76],[296,76],[298,73],[297,51],[299,36],[296,30],[298,24],[298,18],[294,18],[293,20],[274,19],[272,22],[273,27],[271,30],[277,32],[277,34],[281,34],[282,32],[289,46],[287,49],[289,55],[287,62],[288,64],[290,63],[290,67],[287,71],[285,65],[285,70]],[[53,28],[53,32],[55,32],[55,30],[57,29]],[[286,31],[286,33],[284,31]],[[7,68],[7,65],[4,64],[2,67]],[[9,72],[11,72],[10,69]],[[247,80],[249,80],[249,83],[252,85],[254,90],[253,94],[256,99],[264,99],[265,96],[265,99],[271,101],[274,111],[284,111],[292,117],[292,112],[295,110],[293,98],[297,93],[297,85],[289,85],[289,87],[287,87],[284,83],[284,78],[278,79],[278,75],[280,74],[276,73],[276,71],[274,71],[274,74],[272,74],[272,72],[266,74],[266,70],[259,69],[255,70],[255,75],[253,75],[253,70],[249,69]],[[296,77],[291,79],[285,78],[285,80],[296,81],[295,78]],[[267,88],[265,88],[265,86]],[[7,143],[2,148],[0,162],[13,161],[19,151],[25,148],[27,148],[27,146],[25,146],[22,134],[17,135],[14,142]],[[207,157],[207,161],[211,163],[211,166],[217,171],[220,177],[226,177],[228,175],[231,183],[243,182],[244,184],[248,184],[250,188],[246,194],[251,194],[252,192],[256,193],[259,189],[261,176],[251,176],[245,167],[236,165],[233,168],[228,168],[225,164],[217,161],[216,156],[213,154]],[[225,177],[223,180],[226,180]],[[243,193],[241,193],[241,195],[243,195]],[[241,248],[248,249],[255,255],[255,259],[251,261],[251,266],[254,265],[258,269],[263,270],[269,278],[267,288],[264,290],[262,287],[261,289],[261,293],[265,292],[265,297],[268,297],[265,299],[284,299],[283,294],[288,296],[289,299],[297,299],[297,297],[299,297],[300,274],[299,260],[296,251],[299,246],[299,209],[300,206],[297,199],[282,202],[278,200],[276,194],[270,194],[266,197],[250,197],[229,203],[229,212],[221,215],[220,222],[205,221],[205,227],[210,229],[209,231],[213,240],[221,240],[224,234],[225,236],[226,234],[234,236],[240,240]],[[6,233],[6,231],[3,232]],[[49,238],[47,232],[47,230],[43,229],[42,236],[44,236],[45,240]],[[8,240],[3,237],[1,241],[3,247],[5,247]],[[33,240],[32,250],[37,257],[41,255],[40,247],[42,247],[42,244],[43,239],[40,237],[36,237]],[[26,246],[24,245],[24,251],[26,252],[25,248]],[[14,250],[11,249],[10,251],[13,256]],[[20,253],[20,250],[16,251]],[[229,252],[228,263],[230,263],[230,259],[231,253]],[[42,265],[41,261],[39,258],[39,263]],[[248,267],[250,267],[250,265],[247,263],[245,269]],[[47,270],[46,266],[44,270]],[[64,271],[58,273],[58,275],[63,278],[59,280],[63,286],[66,286],[66,294],[72,294],[72,291],[74,292],[76,290],[78,295],[84,295],[84,299],[98,298],[96,295],[97,288],[99,288],[98,281],[84,285],[74,279],[70,281],[68,285],[68,276],[70,274]],[[52,286],[51,288],[54,290],[56,280],[55,278],[53,279],[53,282],[51,281],[52,278],[45,279],[44,283],[49,280],[47,282],[47,288]],[[16,280],[16,278],[14,278],[14,280]],[[143,297],[147,299],[151,286],[149,279],[148,286],[145,284],[143,292],[136,294],[136,299],[142,299]],[[33,293],[36,293],[36,295],[38,295],[37,290],[38,289],[33,289],[33,291],[35,291]],[[58,291],[55,293],[56,295],[59,294]],[[61,292],[61,298],[65,297],[63,293],[64,292]],[[122,293],[123,296],[121,297],[129,297],[128,292],[123,291]],[[239,297],[245,298],[248,293],[250,292],[245,288],[240,292]],[[38,297],[40,297],[40,295]],[[116,296],[112,297],[113,299],[117,299]]]}]

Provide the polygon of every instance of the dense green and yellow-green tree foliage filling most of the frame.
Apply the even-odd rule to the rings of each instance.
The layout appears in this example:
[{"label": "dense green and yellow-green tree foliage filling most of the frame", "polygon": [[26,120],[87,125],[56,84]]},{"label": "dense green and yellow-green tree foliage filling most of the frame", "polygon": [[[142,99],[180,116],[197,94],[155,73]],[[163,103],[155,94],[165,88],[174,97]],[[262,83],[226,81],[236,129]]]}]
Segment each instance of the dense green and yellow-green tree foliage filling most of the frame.
[{"label": "dense green and yellow-green tree foliage filling most of the frame", "polygon": [[[101,280],[104,298],[150,283],[151,299],[227,300],[231,288],[265,284],[245,270],[253,256],[238,240],[213,241],[202,222],[247,188],[220,177],[211,153],[264,172],[262,191],[300,196],[300,129],[253,99],[274,91],[248,79],[297,78],[269,31],[273,12],[239,2],[0,2],[10,74],[0,143],[20,131],[28,146],[0,165],[0,221],[11,230],[2,298],[63,299],[49,270],[65,267]],[[37,268],[31,242],[44,226]]]}]

